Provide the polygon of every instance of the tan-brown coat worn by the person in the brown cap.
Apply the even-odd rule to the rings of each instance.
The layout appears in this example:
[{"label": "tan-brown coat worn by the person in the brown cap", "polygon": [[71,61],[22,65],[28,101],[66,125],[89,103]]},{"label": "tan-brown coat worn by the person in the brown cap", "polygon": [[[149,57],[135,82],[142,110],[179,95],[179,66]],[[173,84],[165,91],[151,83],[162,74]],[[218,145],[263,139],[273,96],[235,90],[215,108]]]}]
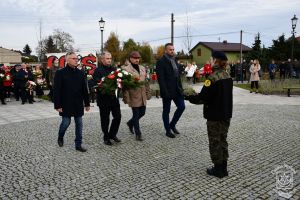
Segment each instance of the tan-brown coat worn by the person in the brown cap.
[{"label": "tan-brown coat worn by the person in the brown cap", "polygon": [[[121,67],[123,70],[132,74],[135,78],[139,78],[141,82],[146,80],[146,69],[139,65],[140,73],[132,67],[131,64]],[[142,85],[136,89],[129,89],[123,91],[123,101],[128,104],[129,107],[146,106],[147,99],[150,99],[151,91],[149,85]]]}]

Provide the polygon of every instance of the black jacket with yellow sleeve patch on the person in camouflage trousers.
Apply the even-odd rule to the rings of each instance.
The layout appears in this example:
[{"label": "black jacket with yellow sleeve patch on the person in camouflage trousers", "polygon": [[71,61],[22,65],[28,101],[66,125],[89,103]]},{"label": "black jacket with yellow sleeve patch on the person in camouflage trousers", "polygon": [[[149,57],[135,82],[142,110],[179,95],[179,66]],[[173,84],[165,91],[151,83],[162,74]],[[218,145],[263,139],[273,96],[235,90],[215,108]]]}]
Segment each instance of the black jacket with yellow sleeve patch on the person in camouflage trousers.
[{"label": "black jacket with yellow sleeve patch on the person in camouflage trousers", "polygon": [[[215,74],[213,73],[213,75]],[[189,96],[188,99],[191,103],[204,104],[205,119],[209,121],[228,120],[232,118],[233,81],[229,76],[222,76],[222,72],[215,77],[219,79],[206,80],[201,92],[198,95]]]}]

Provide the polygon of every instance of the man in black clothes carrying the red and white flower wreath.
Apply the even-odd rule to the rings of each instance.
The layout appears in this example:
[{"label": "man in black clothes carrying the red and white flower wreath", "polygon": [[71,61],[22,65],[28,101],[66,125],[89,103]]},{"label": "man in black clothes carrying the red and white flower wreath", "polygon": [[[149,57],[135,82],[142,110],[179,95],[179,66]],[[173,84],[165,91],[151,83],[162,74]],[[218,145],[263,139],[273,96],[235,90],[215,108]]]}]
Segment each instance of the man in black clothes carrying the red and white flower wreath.
[{"label": "man in black clothes carrying the red and white flower wreath", "polygon": [[[111,54],[109,52],[104,52],[101,55],[101,64],[95,69],[93,74],[94,85],[97,85],[102,78],[116,70],[116,68],[111,65],[111,62]],[[99,106],[101,129],[104,134],[104,144],[112,145],[110,139],[114,140],[115,142],[121,142],[117,138],[117,133],[121,123],[121,110],[118,97],[115,93],[103,94],[101,91],[98,91],[97,105]],[[112,114],[113,119],[109,127],[110,113]]]}]

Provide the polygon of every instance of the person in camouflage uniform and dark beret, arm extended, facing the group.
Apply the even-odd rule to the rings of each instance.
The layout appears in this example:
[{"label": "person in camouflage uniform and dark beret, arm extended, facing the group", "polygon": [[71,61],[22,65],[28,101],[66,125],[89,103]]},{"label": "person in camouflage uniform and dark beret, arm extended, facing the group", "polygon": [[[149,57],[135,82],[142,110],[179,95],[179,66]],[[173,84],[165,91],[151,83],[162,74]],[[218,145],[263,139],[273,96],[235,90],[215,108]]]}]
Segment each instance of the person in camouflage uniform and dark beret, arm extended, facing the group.
[{"label": "person in camouflage uniform and dark beret, arm extended, facing the group", "polygon": [[207,169],[207,174],[223,178],[228,176],[227,132],[232,117],[233,81],[226,72],[227,57],[223,52],[215,51],[213,73],[207,77],[201,92],[186,96],[193,104],[204,104],[204,118],[207,119],[209,152],[214,166]]}]

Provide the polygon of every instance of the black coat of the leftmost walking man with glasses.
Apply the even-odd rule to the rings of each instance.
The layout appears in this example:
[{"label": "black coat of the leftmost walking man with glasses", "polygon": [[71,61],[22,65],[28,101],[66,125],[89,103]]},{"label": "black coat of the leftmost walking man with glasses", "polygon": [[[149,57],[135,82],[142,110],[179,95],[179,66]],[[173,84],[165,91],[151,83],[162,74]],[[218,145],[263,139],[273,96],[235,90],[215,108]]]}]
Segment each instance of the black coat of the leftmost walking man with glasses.
[{"label": "black coat of the leftmost walking man with glasses", "polygon": [[84,74],[77,68],[68,65],[57,70],[54,78],[54,108],[62,108],[61,116],[80,117],[84,114],[84,106],[90,106]]}]

